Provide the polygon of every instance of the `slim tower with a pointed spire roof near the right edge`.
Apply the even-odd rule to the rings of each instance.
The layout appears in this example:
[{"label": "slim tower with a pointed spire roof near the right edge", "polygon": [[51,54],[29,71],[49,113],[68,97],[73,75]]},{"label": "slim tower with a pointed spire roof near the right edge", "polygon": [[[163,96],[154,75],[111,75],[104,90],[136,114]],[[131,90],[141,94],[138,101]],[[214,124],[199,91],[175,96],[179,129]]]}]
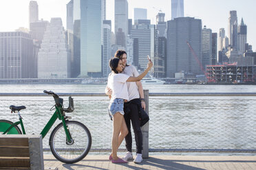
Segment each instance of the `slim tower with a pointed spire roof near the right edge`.
[{"label": "slim tower with a pointed spire roof near the right edge", "polygon": [[247,42],[247,26],[242,18],[237,30],[237,51],[240,54],[245,53],[245,44]]}]

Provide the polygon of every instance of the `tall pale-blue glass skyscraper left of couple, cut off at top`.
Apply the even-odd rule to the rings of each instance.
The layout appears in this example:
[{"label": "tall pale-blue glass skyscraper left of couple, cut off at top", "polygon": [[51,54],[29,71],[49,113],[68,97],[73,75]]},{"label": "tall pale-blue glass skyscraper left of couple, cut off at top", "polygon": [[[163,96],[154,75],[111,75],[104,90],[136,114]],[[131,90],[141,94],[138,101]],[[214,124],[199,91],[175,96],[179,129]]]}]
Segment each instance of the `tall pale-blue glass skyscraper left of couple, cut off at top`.
[{"label": "tall pale-blue glass skyscraper left of couple, cut off at top", "polygon": [[74,59],[81,77],[101,77],[102,0],[74,0]]}]

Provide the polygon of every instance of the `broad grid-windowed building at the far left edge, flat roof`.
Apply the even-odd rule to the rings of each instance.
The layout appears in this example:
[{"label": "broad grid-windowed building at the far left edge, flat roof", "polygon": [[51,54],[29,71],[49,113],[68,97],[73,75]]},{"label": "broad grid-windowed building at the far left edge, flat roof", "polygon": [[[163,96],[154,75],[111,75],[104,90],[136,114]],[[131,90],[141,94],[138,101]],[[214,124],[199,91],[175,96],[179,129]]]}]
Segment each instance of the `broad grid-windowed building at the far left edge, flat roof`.
[{"label": "broad grid-windowed building at the far left edge, flat roof", "polygon": [[24,32],[0,32],[0,78],[32,77],[33,42]]}]

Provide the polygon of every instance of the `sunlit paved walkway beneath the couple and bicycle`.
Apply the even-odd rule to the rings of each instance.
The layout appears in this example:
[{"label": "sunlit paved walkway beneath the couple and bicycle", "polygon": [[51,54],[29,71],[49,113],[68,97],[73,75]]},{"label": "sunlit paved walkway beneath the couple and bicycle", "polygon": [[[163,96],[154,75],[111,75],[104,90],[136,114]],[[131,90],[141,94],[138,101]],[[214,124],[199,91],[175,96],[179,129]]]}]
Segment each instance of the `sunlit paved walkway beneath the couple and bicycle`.
[{"label": "sunlit paved walkway beneath the couple and bicycle", "polygon": [[108,156],[87,155],[76,164],[67,165],[57,161],[52,155],[44,155],[45,169],[228,169],[255,170],[256,156],[169,156],[153,155],[143,159],[142,163],[112,164]]}]

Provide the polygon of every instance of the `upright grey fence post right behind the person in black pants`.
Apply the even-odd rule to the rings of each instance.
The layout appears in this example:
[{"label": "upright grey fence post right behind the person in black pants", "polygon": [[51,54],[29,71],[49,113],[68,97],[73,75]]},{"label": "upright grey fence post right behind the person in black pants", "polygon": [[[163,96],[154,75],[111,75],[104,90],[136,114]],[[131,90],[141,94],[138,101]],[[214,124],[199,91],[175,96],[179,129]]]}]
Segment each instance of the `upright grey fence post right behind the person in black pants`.
[{"label": "upright grey fence post right behind the person in black pants", "polygon": [[[149,90],[144,90],[146,112],[149,114]],[[141,127],[143,138],[142,158],[149,158],[149,122]]]}]

